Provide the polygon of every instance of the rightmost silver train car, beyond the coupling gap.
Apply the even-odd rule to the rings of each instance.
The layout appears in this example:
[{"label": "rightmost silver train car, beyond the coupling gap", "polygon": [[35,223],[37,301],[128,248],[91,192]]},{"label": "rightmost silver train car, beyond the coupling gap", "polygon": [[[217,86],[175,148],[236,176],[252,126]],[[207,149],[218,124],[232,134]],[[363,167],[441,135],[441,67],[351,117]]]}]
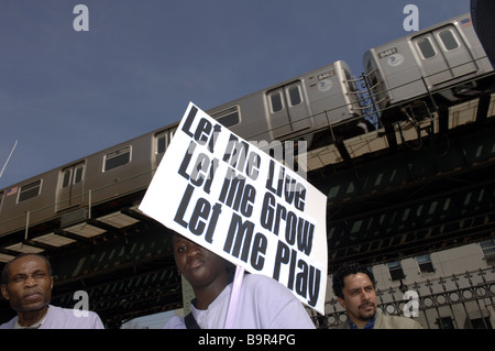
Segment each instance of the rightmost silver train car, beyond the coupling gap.
[{"label": "rightmost silver train car, beyond the coupling gap", "polygon": [[381,110],[429,95],[455,103],[485,89],[493,73],[470,13],[373,47],[363,65]]}]

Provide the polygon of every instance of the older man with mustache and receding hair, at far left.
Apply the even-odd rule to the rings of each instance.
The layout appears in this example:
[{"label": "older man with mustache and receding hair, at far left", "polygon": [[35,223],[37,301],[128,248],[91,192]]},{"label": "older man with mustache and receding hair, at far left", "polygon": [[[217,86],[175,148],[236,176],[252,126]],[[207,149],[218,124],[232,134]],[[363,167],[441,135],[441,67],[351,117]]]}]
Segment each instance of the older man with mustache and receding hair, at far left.
[{"label": "older man with mustache and receding hair, at far left", "polygon": [[7,263],[2,296],[18,316],[0,329],[103,329],[100,317],[92,311],[76,316],[73,309],[50,305],[52,288],[52,267],[45,256],[21,254]]}]

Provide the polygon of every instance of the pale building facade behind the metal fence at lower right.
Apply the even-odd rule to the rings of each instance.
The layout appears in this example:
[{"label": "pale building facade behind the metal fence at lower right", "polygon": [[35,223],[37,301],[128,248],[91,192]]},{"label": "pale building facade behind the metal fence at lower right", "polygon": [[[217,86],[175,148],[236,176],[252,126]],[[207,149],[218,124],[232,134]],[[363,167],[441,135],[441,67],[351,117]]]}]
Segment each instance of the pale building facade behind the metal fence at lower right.
[{"label": "pale building facade behind the metal fence at lower right", "polygon": [[[369,268],[385,315],[415,318],[427,329],[494,329],[494,264],[495,240],[490,239]],[[346,319],[331,275],[328,282],[326,315],[315,316],[319,328],[334,328]]]}]

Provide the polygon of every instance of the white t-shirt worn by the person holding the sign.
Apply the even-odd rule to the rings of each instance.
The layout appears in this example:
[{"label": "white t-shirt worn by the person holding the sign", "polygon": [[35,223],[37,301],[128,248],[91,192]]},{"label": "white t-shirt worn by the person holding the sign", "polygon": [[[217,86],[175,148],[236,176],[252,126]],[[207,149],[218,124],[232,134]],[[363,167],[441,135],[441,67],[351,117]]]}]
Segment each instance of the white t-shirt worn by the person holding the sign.
[{"label": "white t-shirt worn by the person holding the sign", "polygon": [[[199,310],[191,306],[201,329],[223,329],[229,309],[232,284],[208,306]],[[172,317],[165,329],[186,329],[184,318]],[[264,275],[246,274],[242,281],[233,325],[235,329],[315,329],[302,304],[284,285]]]}]

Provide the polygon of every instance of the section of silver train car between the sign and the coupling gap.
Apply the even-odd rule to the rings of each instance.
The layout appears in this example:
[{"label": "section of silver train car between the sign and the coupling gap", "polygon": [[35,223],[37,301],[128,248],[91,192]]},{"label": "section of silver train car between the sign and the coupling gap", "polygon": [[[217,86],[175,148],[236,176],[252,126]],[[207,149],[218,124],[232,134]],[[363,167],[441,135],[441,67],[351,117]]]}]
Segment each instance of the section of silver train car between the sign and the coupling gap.
[{"label": "section of silver train car between the sign and the coupling gap", "polygon": [[367,132],[362,119],[354,77],[338,61],[297,78],[230,101],[208,113],[246,140],[306,140],[332,125],[336,134]]}]

